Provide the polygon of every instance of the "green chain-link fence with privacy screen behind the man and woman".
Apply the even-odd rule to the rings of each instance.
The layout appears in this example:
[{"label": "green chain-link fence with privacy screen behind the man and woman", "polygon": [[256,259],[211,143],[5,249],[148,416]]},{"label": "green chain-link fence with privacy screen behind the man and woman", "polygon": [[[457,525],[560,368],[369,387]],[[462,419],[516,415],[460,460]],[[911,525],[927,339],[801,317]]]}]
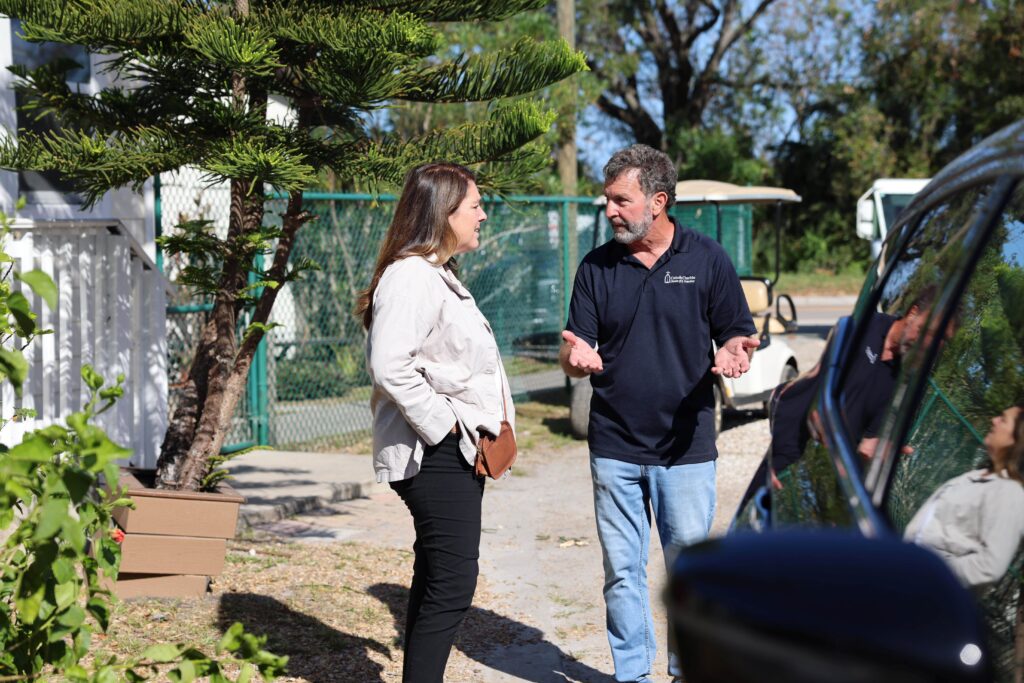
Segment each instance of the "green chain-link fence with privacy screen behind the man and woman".
[{"label": "green chain-link fence with privacy screen behind the man and woman", "polygon": [[[165,176],[166,178],[167,176]],[[392,196],[307,193],[316,219],[298,233],[292,254],[319,269],[304,273],[278,296],[272,329],[257,352],[248,391],[225,443],[327,451],[365,441],[370,433],[366,336],[352,314],[394,210]],[[226,191],[197,190],[188,182],[162,183],[161,226],[208,218],[226,227]],[[285,201],[271,198],[266,220],[280,220]],[[744,210],[745,209],[745,213]],[[519,397],[556,389],[565,378],[555,362],[571,289],[569,225],[579,257],[610,231],[593,198],[511,197],[487,201],[480,248],[460,259],[460,278],[473,293],[498,338],[512,390]],[[750,273],[750,209],[723,207],[723,244],[741,274]],[[677,207],[687,225],[716,234],[713,207]],[[180,264],[164,263],[173,278]],[[184,297],[184,293],[179,293]],[[187,372],[188,351],[209,306],[187,299],[168,308],[171,402]]]}]

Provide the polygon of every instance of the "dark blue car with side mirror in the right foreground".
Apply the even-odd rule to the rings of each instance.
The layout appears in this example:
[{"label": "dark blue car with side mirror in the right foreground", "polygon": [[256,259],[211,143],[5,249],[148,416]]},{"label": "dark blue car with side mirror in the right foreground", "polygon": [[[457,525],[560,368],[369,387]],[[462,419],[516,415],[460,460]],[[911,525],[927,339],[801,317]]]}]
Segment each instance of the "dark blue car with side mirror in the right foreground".
[{"label": "dark blue car with side mirror in the right foreground", "polygon": [[[1024,122],[906,208],[666,599],[690,683],[1024,677]],[[1019,422],[1018,422],[1019,421]]]}]

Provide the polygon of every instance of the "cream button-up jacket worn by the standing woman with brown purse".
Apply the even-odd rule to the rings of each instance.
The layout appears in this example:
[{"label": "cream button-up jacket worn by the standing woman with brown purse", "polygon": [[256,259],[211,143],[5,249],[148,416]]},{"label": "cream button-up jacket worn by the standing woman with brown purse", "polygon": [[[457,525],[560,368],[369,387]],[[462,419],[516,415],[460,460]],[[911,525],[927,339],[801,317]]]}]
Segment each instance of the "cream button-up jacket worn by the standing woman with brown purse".
[{"label": "cream button-up jacket worn by the standing woman with brown purse", "polygon": [[473,464],[478,431],[498,433],[503,387],[515,426],[498,343],[473,296],[447,269],[413,256],[384,270],[373,307],[367,366],[377,480],[414,476],[424,447],[456,421],[462,455]]}]

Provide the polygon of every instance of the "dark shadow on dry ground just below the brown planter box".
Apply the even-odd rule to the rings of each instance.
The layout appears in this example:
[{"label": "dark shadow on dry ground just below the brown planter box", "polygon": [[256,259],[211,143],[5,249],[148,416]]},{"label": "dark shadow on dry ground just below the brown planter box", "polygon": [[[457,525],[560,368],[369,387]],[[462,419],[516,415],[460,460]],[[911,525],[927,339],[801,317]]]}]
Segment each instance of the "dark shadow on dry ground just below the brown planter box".
[{"label": "dark shadow on dry ground just below the brown planter box", "polygon": [[217,626],[226,631],[234,622],[241,622],[249,633],[265,635],[267,650],[288,655],[288,675],[310,683],[382,681],[384,668],[367,653],[401,654],[376,640],[338,631],[265,595],[222,595]]}]

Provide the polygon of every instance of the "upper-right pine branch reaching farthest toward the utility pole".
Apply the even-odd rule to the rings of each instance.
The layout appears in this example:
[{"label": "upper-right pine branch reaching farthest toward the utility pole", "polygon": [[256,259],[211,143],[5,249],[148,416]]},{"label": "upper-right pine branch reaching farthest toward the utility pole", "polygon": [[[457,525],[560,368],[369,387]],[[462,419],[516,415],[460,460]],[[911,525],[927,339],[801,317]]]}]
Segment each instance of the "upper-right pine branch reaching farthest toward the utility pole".
[{"label": "upper-right pine branch reaching farthest toward the utility pole", "polygon": [[539,90],[587,71],[586,56],[564,40],[528,38],[512,47],[421,69],[397,97],[415,101],[486,101]]}]

